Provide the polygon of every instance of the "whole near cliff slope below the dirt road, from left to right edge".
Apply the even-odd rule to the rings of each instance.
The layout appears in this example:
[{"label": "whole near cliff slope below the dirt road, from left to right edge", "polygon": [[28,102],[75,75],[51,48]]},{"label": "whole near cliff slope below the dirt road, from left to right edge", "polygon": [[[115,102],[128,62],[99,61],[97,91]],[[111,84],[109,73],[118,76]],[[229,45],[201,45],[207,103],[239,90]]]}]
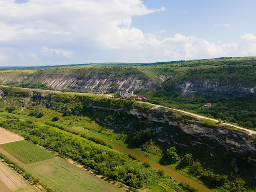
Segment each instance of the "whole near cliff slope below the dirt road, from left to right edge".
[{"label": "whole near cliff slope below the dirt road, from left to right edge", "polygon": [[[250,152],[256,155],[256,139],[243,132],[225,127],[207,125],[202,120],[163,108],[147,108],[133,105],[129,100],[86,96],[65,96],[45,91],[27,91],[0,88],[0,108],[17,103],[21,112],[40,104],[64,115],[88,115],[95,121],[136,134],[140,129],[151,129],[155,138],[165,143],[186,147],[206,145],[209,149]],[[74,103],[74,106],[72,106]],[[13,104],[12,104],[13,105]],[[122,107],[120,107],[122,106]],[[71,108],[70,108],[71,107]]]}]

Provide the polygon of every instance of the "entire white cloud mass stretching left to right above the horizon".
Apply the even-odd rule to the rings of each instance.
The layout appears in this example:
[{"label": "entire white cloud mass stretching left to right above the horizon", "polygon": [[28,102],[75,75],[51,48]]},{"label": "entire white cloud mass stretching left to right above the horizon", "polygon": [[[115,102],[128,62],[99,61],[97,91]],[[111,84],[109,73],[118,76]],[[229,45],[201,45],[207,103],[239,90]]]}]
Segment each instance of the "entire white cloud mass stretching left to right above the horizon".
[{"label": "entire white cloud mass stretching left to right above the horizon", "polygon": [[0,63],[155,62],[256,54],[251,33],[240,42],[215,45],[198,36],[167,36],[164,29],[144,33],[132,26],[134,16],[158,11],[165,8],[150,9],[141,0],[0,0]]}]

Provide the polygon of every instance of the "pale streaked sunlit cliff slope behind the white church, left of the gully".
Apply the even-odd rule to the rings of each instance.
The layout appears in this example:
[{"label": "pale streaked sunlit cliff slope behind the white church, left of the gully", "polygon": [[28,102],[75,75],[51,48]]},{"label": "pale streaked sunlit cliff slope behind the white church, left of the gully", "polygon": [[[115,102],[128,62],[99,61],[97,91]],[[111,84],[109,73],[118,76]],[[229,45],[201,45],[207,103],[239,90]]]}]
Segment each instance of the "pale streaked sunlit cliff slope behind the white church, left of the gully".
[{"label": "pale streaked sunlit cliff slope behind the white church, left of the gully", "polygon": [[[103,70],[103,69],[102,69]],[[114,92],[133,89],[154,89],[160,87],[138,71],[117,71],[101,69],[76,70],[66,72],[57,70],[33,75],[26,83],[42,83],[58,90],[81,90],[83,92]]]}]

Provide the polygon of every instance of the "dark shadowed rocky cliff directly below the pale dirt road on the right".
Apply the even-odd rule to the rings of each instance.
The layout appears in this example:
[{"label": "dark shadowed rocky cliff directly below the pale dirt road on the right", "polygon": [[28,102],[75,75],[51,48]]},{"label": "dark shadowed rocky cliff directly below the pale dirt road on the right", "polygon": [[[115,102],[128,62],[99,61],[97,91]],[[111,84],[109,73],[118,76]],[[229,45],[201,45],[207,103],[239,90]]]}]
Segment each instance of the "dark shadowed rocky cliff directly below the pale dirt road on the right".
[{"label": "dark shadowed rocky cliff directly below the pale dirt road on the right", "polygon": [[130,110],[109,109],[95,105],[88,105],[88,107],[92,107],[97,116],[101,113],[104,114],[106,110],[127,114],[127,119],[122,118],[120,125],[120,118],[114,113],[111,118],[97,118],[97,121],[112,127],[129,129],[133,134],[137,132],[133,125],[140,124],[142,127],[155,132],[156,139],[164,143],[175,143],[186,147],[206,145],[209,148],[215,148],[215,150],[222,148],[232,152],[256,154],[256,140],[252,136],[238,130],[202,124],[198,118],[184,116],[177,112],[161,112],[159,109],[142,112],[139,107]]}]

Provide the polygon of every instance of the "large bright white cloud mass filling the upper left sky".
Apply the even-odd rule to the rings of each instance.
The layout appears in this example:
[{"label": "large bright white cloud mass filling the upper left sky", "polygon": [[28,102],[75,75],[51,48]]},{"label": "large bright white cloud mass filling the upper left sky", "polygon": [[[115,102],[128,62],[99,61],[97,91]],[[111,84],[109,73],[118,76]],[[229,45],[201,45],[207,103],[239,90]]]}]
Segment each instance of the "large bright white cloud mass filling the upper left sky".
[{"label": "large bright white cloud mass filling the upper left sky", "polygon": [[[143,38],[141,30],[131,27],[132,16],[164,10],[148,9],[141,0],[1,0],[0,41],[13,48],[12,57],[27,57],[26,63],[71,59],[74,52],[94,45],[132,47]],[[6,47],[0,46],[0,51]]]}]

